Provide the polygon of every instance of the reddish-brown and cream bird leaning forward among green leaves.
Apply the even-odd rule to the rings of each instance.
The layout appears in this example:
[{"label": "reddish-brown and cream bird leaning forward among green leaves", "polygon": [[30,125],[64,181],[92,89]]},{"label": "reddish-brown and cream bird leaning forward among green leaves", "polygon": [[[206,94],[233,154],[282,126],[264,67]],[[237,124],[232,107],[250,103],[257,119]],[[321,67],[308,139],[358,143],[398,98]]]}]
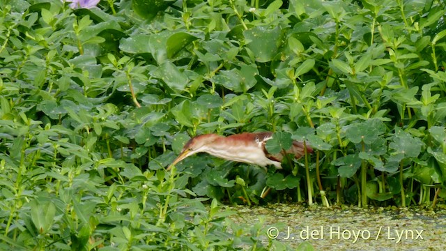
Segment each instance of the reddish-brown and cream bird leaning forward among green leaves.
[{"label": "reddish-brown and cream bird leaning forward among green leaves", "polygon": [[190,155],[201,152],[225,160],[259,165],[264,168],[267,165],[273,165],[277,169],[282,169],[282,159],[285,154],[291,153],[295,159],[299,159],[305,155],[305,148],[307,153],[313,152],[313,149],[307,144],[304,145],[303,142],[293,140],[290,149],[284,149],[275,154],[268,153],[265,144],[270,139],[272,139],[272,132],[243,132],[227,137],[214,133],[198,135],[192,137],[185,144],[180,155],[167,167],[167,170],[169,171],[171,167]]}]

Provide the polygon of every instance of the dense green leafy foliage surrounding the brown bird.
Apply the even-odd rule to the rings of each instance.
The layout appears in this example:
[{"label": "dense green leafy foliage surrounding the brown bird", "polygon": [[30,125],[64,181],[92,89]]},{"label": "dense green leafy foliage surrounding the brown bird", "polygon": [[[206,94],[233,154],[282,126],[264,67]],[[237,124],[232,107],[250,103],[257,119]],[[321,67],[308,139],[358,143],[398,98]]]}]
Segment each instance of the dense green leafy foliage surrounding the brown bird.
[{"label": "dense green leafy foliage surrounding the brown bird", "polygon": [[[443,203],[445,9],[1,1],[0,249],[280,250],[217,201]],[[164,171],[194,135],[261,130],[315,151],[279,172],[208,155]]]}]

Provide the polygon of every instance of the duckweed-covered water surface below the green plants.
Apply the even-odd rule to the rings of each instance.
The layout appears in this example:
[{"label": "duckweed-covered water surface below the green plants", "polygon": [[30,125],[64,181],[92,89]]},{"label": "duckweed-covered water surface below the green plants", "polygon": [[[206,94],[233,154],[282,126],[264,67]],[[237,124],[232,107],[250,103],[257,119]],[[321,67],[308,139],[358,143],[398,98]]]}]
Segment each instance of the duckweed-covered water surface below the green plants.
[{"label": "duckweed-covered water surface below the green plants", "polygon": [[294,204],[228,206],[237,211],[230,218],[238,224],[263,222],[262,243],[274,239],[298,248],[315,250],[445,250],[446,210],[420,208],[332,206]]}]

